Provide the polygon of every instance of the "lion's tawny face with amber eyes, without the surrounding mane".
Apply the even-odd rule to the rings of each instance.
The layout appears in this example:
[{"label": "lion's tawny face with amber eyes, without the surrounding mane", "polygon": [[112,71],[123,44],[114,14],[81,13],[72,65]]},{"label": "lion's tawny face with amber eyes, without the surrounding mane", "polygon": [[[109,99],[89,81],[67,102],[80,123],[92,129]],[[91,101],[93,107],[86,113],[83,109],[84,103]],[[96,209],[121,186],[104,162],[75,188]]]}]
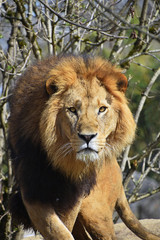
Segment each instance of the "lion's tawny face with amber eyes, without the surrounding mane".
[{"label": "lion's tawny face with amber eyes, without the surrounding mane", "polygon": [[68,152],[77,160],[95,161],[107,148],[107,137],[115,131],[118,114],[112,96],[94,78],[76,81],[63,95],[59,122],[68,139]]}]

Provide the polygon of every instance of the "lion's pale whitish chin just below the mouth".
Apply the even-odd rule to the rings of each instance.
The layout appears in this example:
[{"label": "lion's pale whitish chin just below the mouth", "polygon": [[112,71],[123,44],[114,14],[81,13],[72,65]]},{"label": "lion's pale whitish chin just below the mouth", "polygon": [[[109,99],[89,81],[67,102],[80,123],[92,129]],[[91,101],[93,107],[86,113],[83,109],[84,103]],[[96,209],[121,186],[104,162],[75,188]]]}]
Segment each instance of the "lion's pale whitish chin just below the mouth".
[{"label": "lion's pale whitish chin just below the mouth", "polygon": [[91,149],[84,149],[76,154],[76,159],[83,162],[95,162],[99,159],[98,152]]}]

